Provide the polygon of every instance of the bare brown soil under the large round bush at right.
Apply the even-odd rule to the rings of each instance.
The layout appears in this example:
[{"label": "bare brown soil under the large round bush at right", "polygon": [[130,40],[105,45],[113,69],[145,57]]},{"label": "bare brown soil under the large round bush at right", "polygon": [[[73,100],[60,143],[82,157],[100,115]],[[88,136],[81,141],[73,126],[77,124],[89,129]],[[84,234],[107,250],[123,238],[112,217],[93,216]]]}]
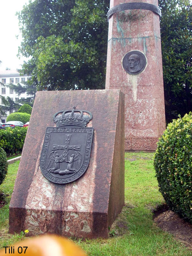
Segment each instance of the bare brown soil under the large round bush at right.
[{"label": "bare brown soil under the large round bush at right", "polygon": [[155,212],[154,221],[158,227],[171,233],[177,240],[192,250],[192,224],[181,219],[167,207]]}]

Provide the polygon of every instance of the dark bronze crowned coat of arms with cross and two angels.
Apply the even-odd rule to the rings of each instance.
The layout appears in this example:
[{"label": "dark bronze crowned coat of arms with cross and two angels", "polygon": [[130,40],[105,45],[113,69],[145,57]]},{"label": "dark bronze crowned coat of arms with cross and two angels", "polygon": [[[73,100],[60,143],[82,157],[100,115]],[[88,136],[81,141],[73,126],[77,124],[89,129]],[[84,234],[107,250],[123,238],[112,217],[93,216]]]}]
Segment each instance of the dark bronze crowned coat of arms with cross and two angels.
[{"label": "dark bronze crowned coat of arms with cross and two angels", "polygon": [[48,180],[67,184],[79,179],[89,165],[93,127],[86,127],[92,114],[65,110],[53,116],[56,127],[47,127],[40,167]]}]

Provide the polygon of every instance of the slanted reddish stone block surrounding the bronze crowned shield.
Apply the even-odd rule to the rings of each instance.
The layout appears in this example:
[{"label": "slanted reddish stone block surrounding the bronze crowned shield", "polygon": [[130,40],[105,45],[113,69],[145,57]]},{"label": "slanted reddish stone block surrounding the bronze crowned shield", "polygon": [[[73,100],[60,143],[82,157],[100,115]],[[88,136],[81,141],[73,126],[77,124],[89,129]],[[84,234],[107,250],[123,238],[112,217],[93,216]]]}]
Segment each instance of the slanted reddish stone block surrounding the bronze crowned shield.
[{"label": "slanted reddish stone block surrounding the bronze crowned shield", "polygon": [[[58,111],[90,111],[94,127],[88,168],[57,184],[40,170],[47,127]],[[70,133],[70,132],[69,132]],[[107,237],[124,205],[124,94],[120,90],[37,92],[10,202],[9,232]]]}]

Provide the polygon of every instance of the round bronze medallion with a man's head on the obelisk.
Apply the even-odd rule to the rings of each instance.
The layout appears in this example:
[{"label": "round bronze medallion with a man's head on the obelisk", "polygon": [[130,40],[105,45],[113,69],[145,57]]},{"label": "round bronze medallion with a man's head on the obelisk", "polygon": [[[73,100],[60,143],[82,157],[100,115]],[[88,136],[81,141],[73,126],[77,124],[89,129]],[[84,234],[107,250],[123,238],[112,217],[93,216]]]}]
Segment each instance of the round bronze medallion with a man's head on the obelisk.
[{"label": "round bronze medallion with a man's head on the obelisk", "polygon": [[123,68],[130,75],[140,74],[146,67],[145,55],[139,51],[128,52],[123,58]]}]

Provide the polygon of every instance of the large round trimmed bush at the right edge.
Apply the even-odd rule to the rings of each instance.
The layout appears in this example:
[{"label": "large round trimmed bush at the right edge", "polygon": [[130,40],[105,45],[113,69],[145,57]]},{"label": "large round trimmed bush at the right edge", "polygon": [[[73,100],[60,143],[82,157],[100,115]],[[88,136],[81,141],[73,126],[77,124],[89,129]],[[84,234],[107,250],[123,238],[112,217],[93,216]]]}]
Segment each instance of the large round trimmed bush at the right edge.
[{"label": "large round trimmed bush at the right edge", "polygon": [[159,190],[169,208],[192,223],[192,113],[168,124],[154,158]]}]

